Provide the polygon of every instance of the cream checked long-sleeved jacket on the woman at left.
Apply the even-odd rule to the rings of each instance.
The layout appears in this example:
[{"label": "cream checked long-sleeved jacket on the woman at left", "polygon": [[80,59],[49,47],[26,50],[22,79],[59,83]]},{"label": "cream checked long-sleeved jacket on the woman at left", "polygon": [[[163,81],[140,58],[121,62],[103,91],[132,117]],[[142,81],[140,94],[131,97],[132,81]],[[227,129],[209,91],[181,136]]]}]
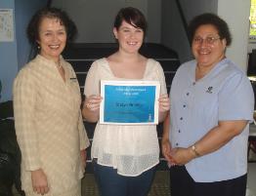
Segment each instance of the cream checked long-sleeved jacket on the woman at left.
[{"label": "cream checked long-sleeved jacket on the woman at left", "polygon": [[80,111],[81,96],[71,65],[61,60],[65,82],[56,63],[38,55],[14,82],[14,111],[21,147],[21,185],[32,191],[31,172],[43,169],[50,195],[79,184],[84,169],[80,150],[89,146]]}]

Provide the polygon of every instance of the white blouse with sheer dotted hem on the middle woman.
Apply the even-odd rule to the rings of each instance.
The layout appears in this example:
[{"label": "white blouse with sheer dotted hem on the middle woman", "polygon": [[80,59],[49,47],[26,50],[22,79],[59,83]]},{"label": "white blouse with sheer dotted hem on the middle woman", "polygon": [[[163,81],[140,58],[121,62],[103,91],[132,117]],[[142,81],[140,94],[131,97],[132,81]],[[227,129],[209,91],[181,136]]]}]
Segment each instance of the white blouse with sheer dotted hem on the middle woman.
[{"label": "white blouse with sheer dotted hem on the middle woman", "polygon": [[[101,80],[117,78],[107,59],[93,62],[87,74],[84,95],[100,95]],[[159,62],[148,59],[142,80],[160,82],[160,94],[166,94],[164,73]],[[92,159],[98,164],[117,169],[122,176],[139,176],[159,163],[159,145],[155,125],[97,124],[92,144]]]}]

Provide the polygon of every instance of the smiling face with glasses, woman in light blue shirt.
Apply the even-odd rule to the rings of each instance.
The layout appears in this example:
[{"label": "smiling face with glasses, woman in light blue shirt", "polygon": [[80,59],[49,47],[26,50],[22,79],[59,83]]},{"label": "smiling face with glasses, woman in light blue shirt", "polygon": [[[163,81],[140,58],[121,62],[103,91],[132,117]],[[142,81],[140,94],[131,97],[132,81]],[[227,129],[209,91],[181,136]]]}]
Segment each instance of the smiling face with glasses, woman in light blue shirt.
[{"label": "smiling face with glasses, woman in light blue shirt", "polygon": [[212,67],[225,57],[226,39],[221,39],[212,24],[200,25],[192,40],[192,54],[198,66]]}]

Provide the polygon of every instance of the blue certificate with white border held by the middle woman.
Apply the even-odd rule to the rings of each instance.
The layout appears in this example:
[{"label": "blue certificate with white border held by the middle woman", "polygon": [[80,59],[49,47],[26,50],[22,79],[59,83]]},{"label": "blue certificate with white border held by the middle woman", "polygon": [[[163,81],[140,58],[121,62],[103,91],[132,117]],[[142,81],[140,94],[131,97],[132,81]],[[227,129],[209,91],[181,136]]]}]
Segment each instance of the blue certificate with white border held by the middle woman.
[{"label": "blue certificate with white border held by the middle woman", "polygon": [[157,81],[101,81],[100,124],[158,124]]}]

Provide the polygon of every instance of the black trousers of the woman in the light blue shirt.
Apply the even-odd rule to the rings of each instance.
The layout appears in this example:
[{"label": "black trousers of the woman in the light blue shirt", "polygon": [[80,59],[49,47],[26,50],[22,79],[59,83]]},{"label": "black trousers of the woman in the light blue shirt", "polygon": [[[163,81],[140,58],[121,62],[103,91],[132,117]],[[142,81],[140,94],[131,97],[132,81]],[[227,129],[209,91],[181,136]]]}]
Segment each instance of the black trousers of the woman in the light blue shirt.
[{"label": "black trousers of the woman in the light blue shirt", "polygon": [[247,175],[216,182],[195,182],[185,166],[170,169],[171,196],[245,196]]}]

